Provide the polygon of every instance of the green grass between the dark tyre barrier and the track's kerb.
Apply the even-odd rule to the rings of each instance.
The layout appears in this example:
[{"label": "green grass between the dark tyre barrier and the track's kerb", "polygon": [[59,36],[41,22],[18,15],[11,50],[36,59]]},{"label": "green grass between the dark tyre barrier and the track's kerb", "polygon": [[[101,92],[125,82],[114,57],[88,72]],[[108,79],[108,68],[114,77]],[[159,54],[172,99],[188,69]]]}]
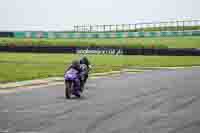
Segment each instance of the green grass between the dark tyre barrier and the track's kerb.
[{"label": "green grass between the dark tyre barrier and the track's kerb", "polygon": [[[65,68],[81,55],[0,53],[0,83],[63,76]],[[200,57],[191,56],[112,56],[89,55],[92,72],[120,70],[128,66],[200,65]]]}]

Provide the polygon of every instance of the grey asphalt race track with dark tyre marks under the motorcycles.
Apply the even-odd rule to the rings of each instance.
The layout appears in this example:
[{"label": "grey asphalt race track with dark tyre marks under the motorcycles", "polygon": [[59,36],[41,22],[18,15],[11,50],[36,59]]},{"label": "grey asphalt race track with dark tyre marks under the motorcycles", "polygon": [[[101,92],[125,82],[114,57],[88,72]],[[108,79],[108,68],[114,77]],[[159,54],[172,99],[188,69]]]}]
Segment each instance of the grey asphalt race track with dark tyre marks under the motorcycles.
[{"label": "grey asphalt race track with dark tyre marks under the motorcycles", "polygon": [[0,132],[200,132],[199,68],[91,79],[81,99],[63,87],[0,94]]}]

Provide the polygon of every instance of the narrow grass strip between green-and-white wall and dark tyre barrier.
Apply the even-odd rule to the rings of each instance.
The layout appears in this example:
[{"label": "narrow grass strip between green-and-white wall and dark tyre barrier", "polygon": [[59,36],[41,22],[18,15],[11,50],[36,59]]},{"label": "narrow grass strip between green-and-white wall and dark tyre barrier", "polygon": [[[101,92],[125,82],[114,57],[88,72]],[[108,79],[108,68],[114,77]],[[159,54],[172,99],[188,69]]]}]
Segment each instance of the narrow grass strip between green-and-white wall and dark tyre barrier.
[{"label": "narrow grass strip between green-and-white wall and dark tyre barrier", "polygon": [[16,39],[0,38],[1,45],[48,45],[48,46],[115,46],[115,47],[169,47],[200,48],[200,37],[155,37],[113,39]]}]

